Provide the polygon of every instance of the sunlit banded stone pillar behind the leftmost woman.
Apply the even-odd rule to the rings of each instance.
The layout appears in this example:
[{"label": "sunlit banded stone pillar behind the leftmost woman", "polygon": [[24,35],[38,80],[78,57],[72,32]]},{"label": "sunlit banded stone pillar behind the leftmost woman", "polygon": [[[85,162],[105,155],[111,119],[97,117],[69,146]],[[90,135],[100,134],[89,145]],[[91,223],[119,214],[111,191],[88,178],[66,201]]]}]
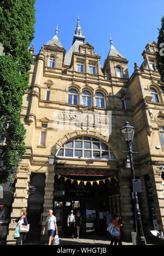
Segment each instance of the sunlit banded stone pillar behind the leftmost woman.
[{"label": "sunlit banded stone pillar behind the leftmost woman", "polygon": [[17,224],[13,224],[11,219],[19,218],[21,209],[27,208],[28,200],[28,183],[30,181],[30,166],[28,164],[20,164],[17,180],[15,184],[15,192],[13,198],[13,205],[11,209],[10,224],[7,236],[7,244],[15,244],[16,240],[13,234]]}]

